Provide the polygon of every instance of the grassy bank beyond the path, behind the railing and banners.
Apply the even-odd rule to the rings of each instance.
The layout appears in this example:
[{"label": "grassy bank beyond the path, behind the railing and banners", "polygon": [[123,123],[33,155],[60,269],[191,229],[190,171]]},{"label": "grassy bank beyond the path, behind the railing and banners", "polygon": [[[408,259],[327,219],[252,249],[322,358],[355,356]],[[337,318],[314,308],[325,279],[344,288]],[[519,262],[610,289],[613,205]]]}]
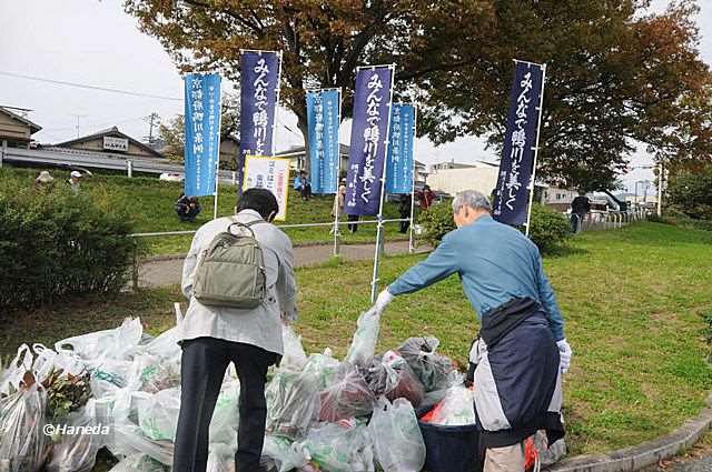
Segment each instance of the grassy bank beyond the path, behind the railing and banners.
[{"label": "grassy bank beyond the path, behind the railing and banners", "polygon": [[[0,168],[0,192],[11,188],[10,183],[32,185],[40,169],[19,169],[11,167]],[[56,184],[63,184],[69,179],[67,171],[51,171]],[[202,223],[212,218],[214,198],[202,197],[200,202],[202,212],[195,223],[184,223],[178,220],[174,203],[182,192],[182,183],[161,182],[157,177],[135,177],[129,179],[117,174],[96,173],[87,178],[82,189],[98,199],[116,201],[118,207],[128,205],[136,225],[136,232],[160,232],[197,230]],[[218,199],[218,214],[233,214],[237,188],[234,185],[220,185]],[[332,207],[334,195],[318,195],[305,202],[297,193],[290,192],[288,202],[287,221],[284,224],[295,223],[325,223],[334,221]],[[388,219],[399,218],[397,204],[388,203],[385,207],[385,215]],[[369,220],[374,218],[368,217]],[[280,223],[281,224],[281,223]],[[295,244],[333,242],[329,234],[330,228],[288,229]],[[376,239],[376,225],[364,224],[354,235],[343,228],[343,243],[374,242]],[[398,233],[398,223],[386,224],[386,238],[389,241],[404,239]],[[191,235],[147,238],[146,251],[149,255],[181,254],[188,252]]]}]

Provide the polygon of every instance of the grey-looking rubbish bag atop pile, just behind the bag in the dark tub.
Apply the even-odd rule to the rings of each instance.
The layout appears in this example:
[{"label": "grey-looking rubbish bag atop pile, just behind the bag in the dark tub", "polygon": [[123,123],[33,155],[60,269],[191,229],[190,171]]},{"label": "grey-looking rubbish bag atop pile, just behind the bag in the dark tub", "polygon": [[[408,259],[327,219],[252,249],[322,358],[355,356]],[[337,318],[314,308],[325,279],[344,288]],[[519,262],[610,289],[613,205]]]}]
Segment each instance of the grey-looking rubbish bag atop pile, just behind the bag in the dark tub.
[{"label": "grey-looking rubbish bag atop pile, just behind the bag in the dark tub", "polygon": [[411,365],[425,386],[426,392],[442,390],[449,383],[449,373],[455,370],[453,362],[435,352],[437,338],[409,338],[399,348],[398,353]]}]

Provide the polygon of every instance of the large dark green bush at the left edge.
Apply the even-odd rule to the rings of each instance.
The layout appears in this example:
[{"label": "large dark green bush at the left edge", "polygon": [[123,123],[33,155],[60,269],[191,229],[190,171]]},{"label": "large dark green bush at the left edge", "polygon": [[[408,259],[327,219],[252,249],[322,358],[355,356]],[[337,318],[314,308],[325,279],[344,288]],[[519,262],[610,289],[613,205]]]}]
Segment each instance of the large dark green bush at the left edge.
[{"label": "large dark green bush at the left edge", "polygon": [[132,262],[132,230],[111,195],[17,182],[0,193],[0,312],[69,294],[117,292]]}]

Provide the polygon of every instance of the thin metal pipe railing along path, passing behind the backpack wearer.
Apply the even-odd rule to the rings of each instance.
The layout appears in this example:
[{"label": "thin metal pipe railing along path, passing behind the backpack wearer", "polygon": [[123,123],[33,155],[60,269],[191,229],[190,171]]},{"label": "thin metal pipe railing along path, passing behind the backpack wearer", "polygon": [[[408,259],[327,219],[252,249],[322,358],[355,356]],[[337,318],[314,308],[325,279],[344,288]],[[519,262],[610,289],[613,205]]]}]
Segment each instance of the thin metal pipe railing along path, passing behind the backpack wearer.
[{"label": "thin metal pipe railing along path, passing behind the backpack wearer", "polygon": [[[385,225],[387,223],[400,223],[403,221],[408,221],[411,222],[409,218],[405,218],[405,219],[389,219],[389,220],[363,220],[363,221],[332,221],[328,223],[296,223],[296,224],[277,224],[276,227],[279,228],[280,230],[291,230],[291,229],[299,229],[299,228],[330,228],[332,229],[332,234],[334,237],[334,242],[333,242],[333,254],[334,257],[339,257],[340,255],[340,232],[337,231],[337,229],[339,227],[350,227],[352,224],[382,224]],[[139,270],[140,270],[140,254],[138,251],[138,240],[139,239],[144,239],[144,238],[164,238],[164,237],[175,237],[175,235],[189,235],[189,234],[195,234],[197,231],[196,230],[189,230],[189,231],[161,231],[161,232],[146,232],[146,233],[134,233],[130,234],[131,238],[134,238],[134,264],[132,264],[132,270],[131,270],[131,285],[134,288],[134,290],[138,289],[139,287]],[[384,244],[385,244],[385,239],[386,239],[386,234],[385,231],[383,231],[382,233],[382,238],[380,241],[375,241],[376,244],[378,244],[378,250],[383,253],[384,251]],[[367,244],[367,243],[366,243]],[[408,244],[408,249],[409,252],[413,252],[415,250],[415,239],[414,239],[414,234],[413,234],[413,223],[411,222],[411,238],[409,238],[409,244]]]}]

